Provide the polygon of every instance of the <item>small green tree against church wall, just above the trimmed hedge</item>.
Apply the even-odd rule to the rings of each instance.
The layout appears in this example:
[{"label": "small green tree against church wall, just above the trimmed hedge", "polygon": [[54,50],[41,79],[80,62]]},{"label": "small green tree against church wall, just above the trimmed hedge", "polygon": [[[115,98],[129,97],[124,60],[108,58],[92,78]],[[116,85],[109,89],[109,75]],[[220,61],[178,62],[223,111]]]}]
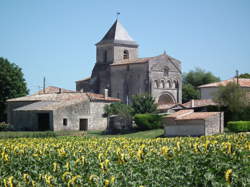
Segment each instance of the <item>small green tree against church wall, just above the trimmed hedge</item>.
[{"label": "small green tree against church wall, just above the trimmed hedge", "polygon": [[157,110],[155,99],[148,94],[135,95],[132,98],[134,114],[154,113]]}]

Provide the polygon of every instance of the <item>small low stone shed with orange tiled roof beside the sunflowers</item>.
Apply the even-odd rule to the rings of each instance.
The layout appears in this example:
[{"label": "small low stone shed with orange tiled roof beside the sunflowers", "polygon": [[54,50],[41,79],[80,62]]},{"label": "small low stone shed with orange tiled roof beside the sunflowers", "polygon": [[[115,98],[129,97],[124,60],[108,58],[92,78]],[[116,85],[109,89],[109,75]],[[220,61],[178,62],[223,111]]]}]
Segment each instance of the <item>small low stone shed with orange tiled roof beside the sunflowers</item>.
[{"label": "small low stone shed with orange tiled roof beside the sunflowers", "polygon": [[223,112],[180,110],[163,119],[165,136],[207,136],[224,131]]}]

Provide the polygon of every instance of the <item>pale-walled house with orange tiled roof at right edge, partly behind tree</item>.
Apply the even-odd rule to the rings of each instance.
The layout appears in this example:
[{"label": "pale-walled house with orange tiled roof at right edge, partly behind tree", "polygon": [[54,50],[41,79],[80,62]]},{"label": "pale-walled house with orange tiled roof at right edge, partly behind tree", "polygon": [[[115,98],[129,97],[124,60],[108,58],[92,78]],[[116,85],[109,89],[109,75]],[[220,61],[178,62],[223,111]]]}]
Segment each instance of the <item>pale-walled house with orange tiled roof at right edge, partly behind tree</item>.
[{"label": "pale-walled house with orange tiled roof at right edge, partly behind tree", "polygon": [[[218,91],[219,86],[226,86],[229,82],[237,83],[237,78],[200,85],[198,88],[200,89],[201,99],[213,99],[214,93]],[[250,79],[239,78],[238,84],[242,89],[250,92]]]}]

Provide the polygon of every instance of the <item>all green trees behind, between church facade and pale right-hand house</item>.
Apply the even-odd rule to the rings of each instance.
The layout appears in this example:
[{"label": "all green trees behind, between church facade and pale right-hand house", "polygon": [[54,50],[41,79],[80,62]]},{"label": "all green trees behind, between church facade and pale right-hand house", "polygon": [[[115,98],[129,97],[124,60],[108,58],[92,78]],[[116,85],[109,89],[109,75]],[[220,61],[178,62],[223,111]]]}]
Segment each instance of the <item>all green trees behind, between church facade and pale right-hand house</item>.
[{"label": "all green trees behind, between church facade and pale right-hand house", "polygon": [[218,82],[220,81],[220,78],[214,76],[211,72],[206,72],[200,68],[195,68],[194,71],[192,70],[188,73],[184,73],[182,80],[182,101],[187,102],[191,99],[200,98],[198,86],[212,82]]}]

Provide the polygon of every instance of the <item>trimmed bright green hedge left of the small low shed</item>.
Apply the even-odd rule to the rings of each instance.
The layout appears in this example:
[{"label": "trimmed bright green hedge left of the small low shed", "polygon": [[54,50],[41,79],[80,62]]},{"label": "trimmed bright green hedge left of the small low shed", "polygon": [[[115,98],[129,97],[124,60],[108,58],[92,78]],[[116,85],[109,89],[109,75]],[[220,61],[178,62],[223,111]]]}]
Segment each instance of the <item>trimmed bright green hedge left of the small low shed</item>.
[{"label": "trimmed bright green hedge left of the small low shed", "polygon": [[161,128],[161,119],[162,117],[157,114],[136,114],[134,117],[136,125],[141,130]]}]

